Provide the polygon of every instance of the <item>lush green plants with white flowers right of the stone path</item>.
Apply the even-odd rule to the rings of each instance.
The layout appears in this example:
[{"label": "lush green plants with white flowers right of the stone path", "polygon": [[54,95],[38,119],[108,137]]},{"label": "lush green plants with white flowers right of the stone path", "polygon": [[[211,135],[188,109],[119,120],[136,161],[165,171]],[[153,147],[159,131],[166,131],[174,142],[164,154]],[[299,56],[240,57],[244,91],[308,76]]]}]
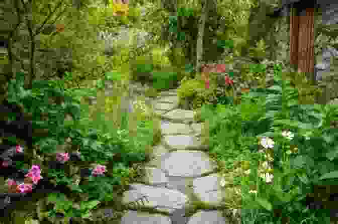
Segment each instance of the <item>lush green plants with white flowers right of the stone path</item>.
[{"label": "lush green plants with white flowers right of the stone path", "polygon": [[[241,223],[329,223],[338,177],[336,105],[300,104],[276,65],[270,88],[250,89],[239,105],[203,108],[221,185],[241,186],[232,204],[243,210]],[[238,175],[229,179],[227,172]]]}]

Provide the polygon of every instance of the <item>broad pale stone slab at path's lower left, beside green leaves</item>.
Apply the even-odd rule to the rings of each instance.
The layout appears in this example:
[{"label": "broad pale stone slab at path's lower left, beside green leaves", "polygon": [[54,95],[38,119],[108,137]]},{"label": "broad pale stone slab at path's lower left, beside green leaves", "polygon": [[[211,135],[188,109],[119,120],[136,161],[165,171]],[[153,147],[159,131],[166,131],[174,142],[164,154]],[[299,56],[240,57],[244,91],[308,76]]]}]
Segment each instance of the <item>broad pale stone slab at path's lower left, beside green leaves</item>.
[{"label": "broad pale stone slab at path's lower left, beside green leaves", "polygon": [[[146,197],[146,199],[143,199],[144,204],[139,203],[140,207],[153,208],[171,214],[175,209],[182,208],[189,202],[189,198],[178,190],[147,186],[138,183],[131,184],[130,188],[131,190],[123,192],[122,203],[125,205],[131,201]],[[132,205],[128,206],[133,208]]]}]

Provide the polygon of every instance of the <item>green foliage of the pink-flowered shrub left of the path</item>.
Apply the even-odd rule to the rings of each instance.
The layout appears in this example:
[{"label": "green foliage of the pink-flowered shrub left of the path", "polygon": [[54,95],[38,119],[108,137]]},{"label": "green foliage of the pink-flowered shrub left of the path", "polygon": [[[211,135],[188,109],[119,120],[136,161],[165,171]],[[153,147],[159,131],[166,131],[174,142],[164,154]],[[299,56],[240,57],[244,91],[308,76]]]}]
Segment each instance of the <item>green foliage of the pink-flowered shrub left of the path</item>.
[{"label": "green foliage of the pink-flowered shrub left of the path", "polygon": [[[64,82],[52,80],[34,81],[32,89],[24,89],[23,78],[23,74],[18,73],[16,79],[11,80],[8,100],[11,103],[23,104],[25,112],[33,115],[33,129],[46,128],[49,136],[33,137],[34,148],[24,151],[25,162],[18,168],[38,164],[44,180],[62,189],[61,192],[69,196],[72,203],[85,200],[94,204],[95,201],[96,206],[114,200],[115,191],[123,189],[133,176],[130,169],[132,164],[145,161],[146,146],[152,144],[153,137],[151,131],[147,132],[145,127],[152,129],[152,126],[138,124],[138,129],[142,129],[143,132],[140,133],[143,134],[137,139],[132,139],[125,127],[114,129],[107,123],[104,114],[101,115],[101,121],[88,119],[88,107],[79,104],[79,96],[93,95],[94,89],[65,89]],[[49,98],[55,99],[56,103],[50,102]],[[57,103],[60,99],[61,103]],[[45,121],[41,120],[42,113],[47,114]],[[66,114],[69,114],[72,120],[65,121]],[[69,161],[69,158],[63,163],[53,162],[58,145],[64,144],[67,139],[70,139],[71,146],[65,149],[65,154],[62,155],[68,156],[66,153],[77,151],[81,163]],[[103,176],[91,175],[95,164],[106,166]],[[63,207],[60,207],[61,204]],[[48,214],[61,212],[68,217],[78,215],[73,213],[71,207],[64,207],[65,203],[61,204]],[[80,216],[89,218],[88,212],[94,206],[83,206],[83,210],[78,212],[82,212]],[[46,212],[46,209],[41,208],[41,213]]]}]

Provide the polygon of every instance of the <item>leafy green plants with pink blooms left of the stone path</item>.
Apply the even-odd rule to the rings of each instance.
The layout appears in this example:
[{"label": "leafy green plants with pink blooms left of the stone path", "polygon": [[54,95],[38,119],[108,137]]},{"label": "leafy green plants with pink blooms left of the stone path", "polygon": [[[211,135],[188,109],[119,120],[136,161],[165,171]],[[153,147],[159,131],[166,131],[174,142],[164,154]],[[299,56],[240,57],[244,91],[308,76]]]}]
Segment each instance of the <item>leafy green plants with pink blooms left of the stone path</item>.
[{"label": "leafy green plants with pink blooms left of the stone path", "polygon": [[[128,117],[117,129],[105,119],[101,124],[90,124],[88,110],[79,103],[80,92],[93,95],[96,89],[65,89],[64,81],[35,81],[32,89],[25,89],[23,77],[17,73],[11,80],[8,100],[24,105],[25,113],[33,116],[33,129],[47,129],[49,135],[34,136],[33,148],[16,147],[25,159],[16,161],[15,166],[25,170],[27,178],[22,183],[8,179],[9,192],[35,193],[45,184],[61,192],[50,194],[46,206],[39,207],[41,219],[91,218],[93,208],[116,199],[116,192],[127,186],[135,174],[132,165],[145,161],[146,146],[153,139],[152,123],[138,122],[136,133],[140,134],[136,138],[130,138]],[[62,100],[57,103],[48,99]],[[66,119],[66,115],[72,119]]]}]

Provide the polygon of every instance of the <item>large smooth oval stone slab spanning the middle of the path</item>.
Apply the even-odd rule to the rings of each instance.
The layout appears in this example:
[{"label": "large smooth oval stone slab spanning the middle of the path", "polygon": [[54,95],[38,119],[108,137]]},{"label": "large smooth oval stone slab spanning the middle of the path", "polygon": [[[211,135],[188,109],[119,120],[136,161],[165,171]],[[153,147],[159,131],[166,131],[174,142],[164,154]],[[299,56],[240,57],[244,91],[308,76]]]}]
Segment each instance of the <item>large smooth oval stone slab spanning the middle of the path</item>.
[{"label": "large smooth oval stone slab spanning the middle of the path", "polygon": [[167,176],[180,177],[200,177],[212,173],[217,168],[217,164],[207,153],[186,150],[168,153],[160,166]]}]

